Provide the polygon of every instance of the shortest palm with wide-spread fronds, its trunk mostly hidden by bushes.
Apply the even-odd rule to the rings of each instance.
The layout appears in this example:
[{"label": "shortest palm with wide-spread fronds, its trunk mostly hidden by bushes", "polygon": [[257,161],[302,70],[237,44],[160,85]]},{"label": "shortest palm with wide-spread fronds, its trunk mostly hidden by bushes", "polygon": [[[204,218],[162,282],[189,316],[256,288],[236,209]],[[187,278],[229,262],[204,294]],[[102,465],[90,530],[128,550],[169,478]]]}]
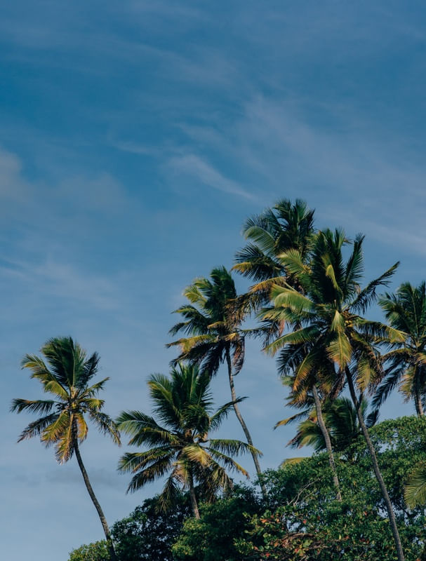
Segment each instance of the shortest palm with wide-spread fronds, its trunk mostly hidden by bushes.
[{"label": "shortest palm with wide-spread fronds, its trunk mostly hidden by bushes", "polygon": [[209,373],[200,372],[195,365],[178,364],[171,377],[152,374],[148,379],[149,396],[159,422],[139,411],[122,412],[117,419],[119,428],[131,435],[130,445],[148,447],[144,452],[127,452],[119,461],[119,470],[133,473],[128,491],[168,473],[159,496],[160,507],[168,510],[179,487],[183,487],[189,490],[195,518],[199,518],[196,485],[201,495],[211,501],[220,490],[226,492],[232,487],[226,469],[248,477],[232,456],[260,454],[246,442],[210,438],[209,433],[219,428],[234,402],[212,414],[209,383]]}]

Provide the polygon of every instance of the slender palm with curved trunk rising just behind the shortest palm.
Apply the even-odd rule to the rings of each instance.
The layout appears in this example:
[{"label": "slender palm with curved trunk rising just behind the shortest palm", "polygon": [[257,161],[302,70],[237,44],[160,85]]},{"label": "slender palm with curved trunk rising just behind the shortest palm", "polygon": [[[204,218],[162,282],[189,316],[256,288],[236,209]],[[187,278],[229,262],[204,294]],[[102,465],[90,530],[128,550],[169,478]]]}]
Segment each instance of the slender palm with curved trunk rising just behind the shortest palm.
[{"label": "slender palm with curved trunk rising just behind the shortest palm", "polygon": [[[253,447],[251,433],[239,410],[234,383],[234,377],[239,374],[244,363],[245,348],[245,334],[241,329],[244,313],[241,313],[239,306],[234,305],[237,299],[234,279],[225,267],[216,267],[211,271],[211,280],[203,277],[195,279],[192,285],[185,288],[184,295],[189,303],[175,310],[184,320],[174,325],[170,333],[175,335],[183,332],[187,337],[167,345],[180,346],[181,349],[178,358],[172,360],[172,365],[180,360],[189,360],[214,376],[222,363],[227,364],[234,412],[248,444]],[[258,454],[253,452],[252,456],[262,493],[266,498]]]}]

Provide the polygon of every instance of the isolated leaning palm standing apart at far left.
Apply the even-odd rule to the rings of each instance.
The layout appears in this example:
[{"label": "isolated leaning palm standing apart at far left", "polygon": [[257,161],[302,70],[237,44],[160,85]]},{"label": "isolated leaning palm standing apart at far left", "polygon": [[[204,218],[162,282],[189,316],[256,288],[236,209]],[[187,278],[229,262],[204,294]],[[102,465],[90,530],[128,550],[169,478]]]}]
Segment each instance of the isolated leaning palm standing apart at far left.
[{"label": "isolated leaning palm standing apart at far left", "polygon": [[92,502],[98,512],[109,553],[113,561],[117,560],[107,520],[89,481],[86,468],[81,459],[79,445],[86,439],[88,426],[86,417],[98,427],[103,434],[109,435],[120,445],[120,436],[116,424],[102,412],[104,400],[98,398],[108,378],[89,385],[88,382],[98,372],[99,356],[93,353],[89,358],[86,351],[71,337],[55,337],[41,347],[46,358],[26,355],[22,359],[22,368],[32,371],[31,378],[39,380],[44,391],[53,394],[50,400],[14,399],[11,410],[18,413],[28,411],[43,416],[29,423],[22,431],[18,442],[40,436],[46,446],[55,446],[55,457],[59,464],[64,464],[75,454],[84,483]]}]

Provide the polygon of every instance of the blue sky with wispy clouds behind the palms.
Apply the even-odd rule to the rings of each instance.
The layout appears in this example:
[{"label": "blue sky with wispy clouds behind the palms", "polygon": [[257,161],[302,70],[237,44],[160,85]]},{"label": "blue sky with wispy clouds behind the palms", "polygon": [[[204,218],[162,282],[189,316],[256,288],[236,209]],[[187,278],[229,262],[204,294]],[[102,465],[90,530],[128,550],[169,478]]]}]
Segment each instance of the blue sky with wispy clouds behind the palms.
[{"label": "blue sky with wispy clouds behind the palms", "polygon": [[[72,335],[100,353],[105,411],[149,412],[145,381],[168,372],[183,288],[232,266],[244,219],[279,198],[305,199],[320,228],[366,234],[368,278],[397,260],[391,288],[425,278],[426,10],[392,0],[0,10],[0,536],[8,561],[66,561],[102,527],[74,459],[58,466],[38,440],[16,443],[32,418],[11,414],[12,398],[41,397],[22,356]],[[295,454],[294,428],[272,430],[286,394],[258,343],[236,385],[262,467],[277,467]],[[213,391],[218,405],[229,399],[225,372]],[[381,417],[411,413],[393,396]],[[233,419],[222,435],[243,436]],[[121,451],[95,428],[81,454],[110,524],[158,490],[126,495]]]}]

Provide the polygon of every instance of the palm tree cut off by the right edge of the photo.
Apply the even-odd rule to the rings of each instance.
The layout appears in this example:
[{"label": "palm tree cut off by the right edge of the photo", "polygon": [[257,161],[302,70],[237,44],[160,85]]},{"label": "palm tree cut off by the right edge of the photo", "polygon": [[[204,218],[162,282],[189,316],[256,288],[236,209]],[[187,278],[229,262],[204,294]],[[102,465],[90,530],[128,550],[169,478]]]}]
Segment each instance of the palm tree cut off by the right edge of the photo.
[{"label": "palm tree cut off by the right edge of the photo", "polygon": [[379,407],[399,384],[406,401],[414,400],[419,417],[425,414],[426,393],[426,283],[418,287],[402,284],[396,294],[378,300],[389,324],[401,334],[401,341],[392,342],[383,356],[389,363],[385,378],[378,387],[373,403]]}]

